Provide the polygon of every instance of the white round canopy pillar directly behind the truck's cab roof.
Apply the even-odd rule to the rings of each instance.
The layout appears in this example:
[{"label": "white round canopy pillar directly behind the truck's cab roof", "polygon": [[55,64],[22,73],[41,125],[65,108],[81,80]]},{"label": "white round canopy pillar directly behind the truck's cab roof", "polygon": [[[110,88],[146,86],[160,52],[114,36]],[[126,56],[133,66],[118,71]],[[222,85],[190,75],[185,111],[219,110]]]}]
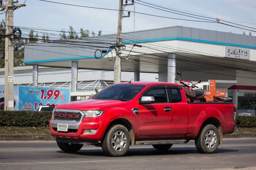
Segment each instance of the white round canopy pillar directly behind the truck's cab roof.
[{"label": "white round canopy pillar directly behind the truck's cab roof", "polygon": [[167,82],[175,83],[176,77],[176,55],[171,54],[168,58]]}]

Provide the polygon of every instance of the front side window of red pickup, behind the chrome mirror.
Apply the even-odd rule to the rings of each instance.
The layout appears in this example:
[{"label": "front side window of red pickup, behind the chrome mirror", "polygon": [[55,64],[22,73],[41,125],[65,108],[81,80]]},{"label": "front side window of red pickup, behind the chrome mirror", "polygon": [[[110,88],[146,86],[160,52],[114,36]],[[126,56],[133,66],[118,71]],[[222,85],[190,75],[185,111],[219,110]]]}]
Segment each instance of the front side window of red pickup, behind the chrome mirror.
[{"label": "front side window of red pickup, behind the chrome mirror", "polygon": [[167,103],[168,102],[167,93],[166,93],[165,88],[152,89],[152,90],[146,92],[145,94],[143,94],[143,96],[153,96],[155,98],[155,103]]}]

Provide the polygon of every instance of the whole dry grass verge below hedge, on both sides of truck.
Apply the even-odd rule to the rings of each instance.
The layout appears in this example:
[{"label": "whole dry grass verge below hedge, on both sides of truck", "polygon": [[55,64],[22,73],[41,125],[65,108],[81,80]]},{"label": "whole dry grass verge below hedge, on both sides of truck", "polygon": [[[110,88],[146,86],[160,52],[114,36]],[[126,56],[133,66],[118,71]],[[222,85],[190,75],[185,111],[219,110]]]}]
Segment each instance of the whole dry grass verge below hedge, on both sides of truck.
[{"label": "whole dry grass verge below hedge, on both sides of truck", "polygon": [[[245,128],[238,127],[235,133],[256,133],[256,127]],[[14,126],[0,126],[0,134],[9,135],[44,135],[50,134],[50,127],[14,127]]]}]

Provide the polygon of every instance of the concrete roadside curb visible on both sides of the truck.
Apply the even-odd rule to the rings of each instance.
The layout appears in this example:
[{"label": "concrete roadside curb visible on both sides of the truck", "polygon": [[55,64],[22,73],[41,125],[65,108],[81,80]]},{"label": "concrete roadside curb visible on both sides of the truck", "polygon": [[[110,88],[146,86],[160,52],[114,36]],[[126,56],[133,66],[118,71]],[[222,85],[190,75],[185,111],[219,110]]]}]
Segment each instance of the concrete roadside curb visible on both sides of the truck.
[{"label": "concrete roadside curb visible on both sides of the truck", "polygon": [[[256,138],[256,133],[232,133],[223,138]],[[0,141],[55,141],[51,135],[0,135]]]}]

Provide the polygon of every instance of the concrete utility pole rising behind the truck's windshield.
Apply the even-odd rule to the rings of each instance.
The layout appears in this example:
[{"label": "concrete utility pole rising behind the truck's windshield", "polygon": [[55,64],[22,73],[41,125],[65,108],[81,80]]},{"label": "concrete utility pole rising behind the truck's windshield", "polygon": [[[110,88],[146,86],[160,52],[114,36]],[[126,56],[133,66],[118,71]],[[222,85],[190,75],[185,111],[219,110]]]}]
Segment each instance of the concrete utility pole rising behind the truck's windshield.
[{"label": "concrete utility pole rising behind the truck's windshield", "polygon": [[116,58],[114,65],[114,83],[121,82],[121,58],[119,55],[121,54],[121,45],[122,45],[122,18],[130,17],[130,11],[128,12],[128,16],[123,16],[123,10],[125,6],[134,5],[134,0],[132,0],[131,4],[128,4],[128,0],[125,0],[125,4],[123,4],[123,0],[119,0],[119,13],[118,13],[118,25],[117,25],[117,40],[116,40]]}]

